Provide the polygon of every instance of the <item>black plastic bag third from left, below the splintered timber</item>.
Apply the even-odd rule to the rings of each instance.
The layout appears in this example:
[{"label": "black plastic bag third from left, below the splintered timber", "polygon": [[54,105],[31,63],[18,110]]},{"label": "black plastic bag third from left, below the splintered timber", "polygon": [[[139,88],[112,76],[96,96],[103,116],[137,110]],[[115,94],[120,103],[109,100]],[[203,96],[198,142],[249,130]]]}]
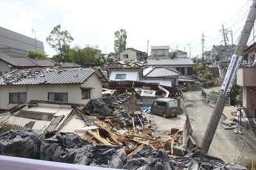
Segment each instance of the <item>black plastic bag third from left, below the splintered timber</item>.
[{"label": "black plastic bag third from left, below the splintered timber", "polygon": [[83,150],[91,154],[91,162],[87,164],[88,166],[122,169],[127,163],[126,154],[122,146],[91,143],[84,146]]}]

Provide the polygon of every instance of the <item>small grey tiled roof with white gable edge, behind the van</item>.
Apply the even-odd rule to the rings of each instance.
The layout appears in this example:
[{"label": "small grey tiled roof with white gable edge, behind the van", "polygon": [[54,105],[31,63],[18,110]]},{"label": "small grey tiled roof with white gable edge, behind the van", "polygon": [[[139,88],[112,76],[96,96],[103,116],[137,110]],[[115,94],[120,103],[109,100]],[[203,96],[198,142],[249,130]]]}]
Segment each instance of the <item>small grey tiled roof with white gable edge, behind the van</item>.
[{"label": "small grey tiled roof with white gable edge, behind the van", "polygon": [[148,67],[143,69],[143,77],[169,77],[169,76],[178,76],[182,73],[178,72],[174,68],[167,67]]}]

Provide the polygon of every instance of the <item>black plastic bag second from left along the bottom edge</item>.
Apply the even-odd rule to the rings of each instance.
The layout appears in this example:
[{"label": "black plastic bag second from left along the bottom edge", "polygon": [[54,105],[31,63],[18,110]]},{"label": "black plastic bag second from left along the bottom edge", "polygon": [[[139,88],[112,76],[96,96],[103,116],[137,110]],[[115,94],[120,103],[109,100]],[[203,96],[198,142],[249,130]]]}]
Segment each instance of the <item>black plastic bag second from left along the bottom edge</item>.
[{"label": "black plastic bag second from left along the bottom edge", "polygon": [[80,148],[86,144],[89,144],[89,141],[81,139],[74,133],[59,132],[42,141],[40,159],[74,164],[80,161],[83,155]]}]

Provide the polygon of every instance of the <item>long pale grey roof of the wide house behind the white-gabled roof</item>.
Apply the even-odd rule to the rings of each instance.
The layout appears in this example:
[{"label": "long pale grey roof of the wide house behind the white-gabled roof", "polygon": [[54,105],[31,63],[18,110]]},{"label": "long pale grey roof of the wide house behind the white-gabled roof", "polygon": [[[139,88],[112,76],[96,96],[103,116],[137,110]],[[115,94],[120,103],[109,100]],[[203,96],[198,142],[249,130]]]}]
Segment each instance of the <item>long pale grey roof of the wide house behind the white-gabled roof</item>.
[{"label": "long pale grey roof of the wide house behind the white-gabled roof", "polygon": [[161,60],[148,60],[147,65],[159,65],[159,66],[178,66],[178,65],[197,65],[189,58],[177,58],[177,59],[161,59]]}]

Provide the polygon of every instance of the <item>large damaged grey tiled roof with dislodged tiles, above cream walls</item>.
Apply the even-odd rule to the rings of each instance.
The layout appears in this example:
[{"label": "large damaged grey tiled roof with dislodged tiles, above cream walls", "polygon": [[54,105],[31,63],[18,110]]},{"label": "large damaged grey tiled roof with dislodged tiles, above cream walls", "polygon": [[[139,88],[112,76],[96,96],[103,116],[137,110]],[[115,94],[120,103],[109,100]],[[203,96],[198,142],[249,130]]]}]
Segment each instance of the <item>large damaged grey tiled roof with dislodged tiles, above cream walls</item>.
[{"label": "large damaged grey tiled roof with dislodged tiles, above cream walls", "polygon": [[[0,77],[6,84],[77,84],[85,82],[97,70],[90,68],[33,68],[17,70]],[[100,77],[102,78],[102,77]]]}]

